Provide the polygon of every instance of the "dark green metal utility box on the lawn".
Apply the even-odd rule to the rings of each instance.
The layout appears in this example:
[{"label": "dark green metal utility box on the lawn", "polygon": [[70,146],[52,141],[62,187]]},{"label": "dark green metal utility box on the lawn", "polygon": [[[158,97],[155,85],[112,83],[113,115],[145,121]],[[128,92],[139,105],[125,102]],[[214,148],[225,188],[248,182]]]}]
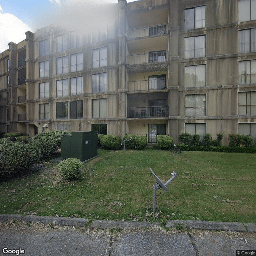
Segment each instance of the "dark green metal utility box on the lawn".
[{"label": "dark green metal utility box on the lawn", "polygon": [[63,135],[61,140],[61,158],[78,158],[84,162],[98,155],[98,132],[72,132]]}]

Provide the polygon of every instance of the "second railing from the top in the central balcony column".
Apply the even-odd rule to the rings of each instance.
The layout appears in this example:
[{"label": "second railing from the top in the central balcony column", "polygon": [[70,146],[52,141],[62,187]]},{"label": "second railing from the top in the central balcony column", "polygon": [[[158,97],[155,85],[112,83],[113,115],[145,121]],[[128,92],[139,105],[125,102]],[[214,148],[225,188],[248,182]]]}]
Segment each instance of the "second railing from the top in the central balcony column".
[{"label": "second railing from the top in the central balcony column", "polygon": [[166,51],[148,52],[144,54],[135,54],[135,55],[127,56],[128,65],[166,62],[167,60],[168,60],[168,52]]}]

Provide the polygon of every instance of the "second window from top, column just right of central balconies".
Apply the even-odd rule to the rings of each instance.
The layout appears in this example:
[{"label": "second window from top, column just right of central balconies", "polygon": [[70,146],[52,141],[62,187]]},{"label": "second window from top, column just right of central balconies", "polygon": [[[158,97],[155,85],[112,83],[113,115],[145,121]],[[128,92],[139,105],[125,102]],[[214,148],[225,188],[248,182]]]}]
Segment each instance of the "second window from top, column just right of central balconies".
[{"label": "second window from top, column just right of central balconies", "polygon": [[205,56],[205,36],[185,37],[185,59]]}]

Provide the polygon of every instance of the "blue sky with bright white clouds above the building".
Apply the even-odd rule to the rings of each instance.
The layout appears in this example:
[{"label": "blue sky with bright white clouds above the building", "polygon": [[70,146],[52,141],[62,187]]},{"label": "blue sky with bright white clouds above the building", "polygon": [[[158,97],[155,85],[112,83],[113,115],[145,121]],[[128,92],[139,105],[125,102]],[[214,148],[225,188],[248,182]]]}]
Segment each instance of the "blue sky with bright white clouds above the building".
[{"label": "blue sky with bright white clouds above the building", "polygon": [[[91,20],[99,6],[117,2],[118,0],[0,0],[0,52],[9,48],[9,42],[24,40],[28,30],[35,32],[56,20],[59,22],[61,18],[65,22],[66,12],[74,14],[74,22],[78,24],[82,19]],[[107,8],[104,6],[103,10]]]}]

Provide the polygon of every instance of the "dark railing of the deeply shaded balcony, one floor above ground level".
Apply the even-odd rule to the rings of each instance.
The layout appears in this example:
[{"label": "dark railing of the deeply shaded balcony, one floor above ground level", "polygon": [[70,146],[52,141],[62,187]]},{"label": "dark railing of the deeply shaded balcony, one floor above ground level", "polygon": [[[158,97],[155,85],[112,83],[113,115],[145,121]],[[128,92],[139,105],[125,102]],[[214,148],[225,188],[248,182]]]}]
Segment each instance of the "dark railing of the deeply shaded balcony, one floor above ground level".
[{"label": "dark railing of the deeply shaded balcony, one floor above ground level", "polygon": [[157,107],[128,107],[127,117],[147,118],[147,117],[168,117],[168,106]]}]

